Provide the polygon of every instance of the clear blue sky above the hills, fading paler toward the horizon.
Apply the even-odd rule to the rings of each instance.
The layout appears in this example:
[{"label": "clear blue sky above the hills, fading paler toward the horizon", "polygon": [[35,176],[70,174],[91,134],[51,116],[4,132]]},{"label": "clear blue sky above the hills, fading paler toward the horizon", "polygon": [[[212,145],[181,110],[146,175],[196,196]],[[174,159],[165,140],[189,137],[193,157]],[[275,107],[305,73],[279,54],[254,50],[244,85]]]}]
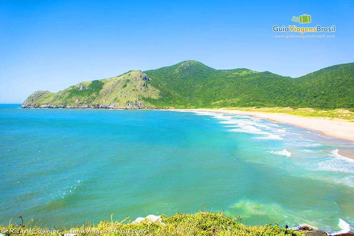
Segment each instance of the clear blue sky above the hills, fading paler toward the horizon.
[{"label": "clear blue sky above the hills, fading paler toward the horizon", "polygon": [[[309,0],[1,1],[0,103],[189,59],[291,77],[353,62],[353,6]],[[312,22],[291,21],[303,14]],[[275,24],[336,25],[330,33],[335,38],[279,39],[274,35],[284,33],[273,32]],[[299,33],[284,35],[290,34]]]}]

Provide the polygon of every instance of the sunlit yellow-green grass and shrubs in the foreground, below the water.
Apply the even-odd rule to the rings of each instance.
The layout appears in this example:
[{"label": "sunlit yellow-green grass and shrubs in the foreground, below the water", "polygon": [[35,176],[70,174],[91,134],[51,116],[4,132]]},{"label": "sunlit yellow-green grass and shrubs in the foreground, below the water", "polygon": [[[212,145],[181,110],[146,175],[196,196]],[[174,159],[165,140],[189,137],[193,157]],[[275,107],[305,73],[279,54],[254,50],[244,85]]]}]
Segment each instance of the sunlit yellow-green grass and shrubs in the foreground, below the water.
[{"label": "sunlit yellow-green grass and shrubs in the foreground, below the water", "polygon": [[[162,217],[162,222],[166,225],[142,222],[140,224],[130,224],[127,217],[122,221],[101,221],[97,225],[86,225],[75,229],[64,229],[56,232],[50,232],[50,229],[40,228],[33,225],[30,220],[24,226],[16,226],[13,224],[5,227],[7,232],[5,235],[63,235],[65,233],[75,233],[78,235],[253,235],[253,236],[301,236],[302,232],[293,231],[291,229],[280,228],[275,225],[256,225],[247,226],[242,224],[241,219],[231,219],[225,217],[222,213],[198,212],[195,214],[176,213],[170,217]],[[9,233],[12,229],[12,233]],[[14,231],[22,230],[23,233],[14,233]],[[42,230],[42,234],[40,233]],[[4,229],[2,231],[4,233]]]}]

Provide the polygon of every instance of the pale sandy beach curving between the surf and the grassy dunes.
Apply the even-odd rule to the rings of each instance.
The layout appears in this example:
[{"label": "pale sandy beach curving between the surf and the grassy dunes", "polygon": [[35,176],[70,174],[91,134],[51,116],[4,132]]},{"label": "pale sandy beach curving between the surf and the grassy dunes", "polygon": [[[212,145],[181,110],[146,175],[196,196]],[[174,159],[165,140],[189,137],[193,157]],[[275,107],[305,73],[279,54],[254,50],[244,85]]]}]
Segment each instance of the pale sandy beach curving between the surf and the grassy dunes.
[{"label": "pale sandy beach curving between the surf and the grassy dunes", "polygon": [[[287,123],[315,131],[326,136],[346,139],[354,142],[354,122],[331,120],[323,117],[304,117],[285,113],[266,113],[258,111],[241,111],[229,109],[176,109],[183,111],[210,111],[236,115],[252,115],[267,120]],[[351,155],[352,156],[352,155]],[[354,157],[354,156],[353,156]],[[353,158],[351,157],[351,158]]]}]

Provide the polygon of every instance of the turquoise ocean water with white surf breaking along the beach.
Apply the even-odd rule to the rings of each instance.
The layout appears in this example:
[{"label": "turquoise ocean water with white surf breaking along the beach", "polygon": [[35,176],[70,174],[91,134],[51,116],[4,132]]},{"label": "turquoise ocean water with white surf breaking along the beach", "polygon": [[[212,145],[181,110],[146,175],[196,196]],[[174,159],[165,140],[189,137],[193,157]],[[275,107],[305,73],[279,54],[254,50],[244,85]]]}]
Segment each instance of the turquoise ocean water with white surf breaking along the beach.
[{"label": "turquoise ocean water with white surf breaking along the beach", "polygon": [[[0,105],[0,224],[207,210],[246,224],[354,226],[354,143],[244,115]],[[353,230],[353,228],[351,228]]]}]

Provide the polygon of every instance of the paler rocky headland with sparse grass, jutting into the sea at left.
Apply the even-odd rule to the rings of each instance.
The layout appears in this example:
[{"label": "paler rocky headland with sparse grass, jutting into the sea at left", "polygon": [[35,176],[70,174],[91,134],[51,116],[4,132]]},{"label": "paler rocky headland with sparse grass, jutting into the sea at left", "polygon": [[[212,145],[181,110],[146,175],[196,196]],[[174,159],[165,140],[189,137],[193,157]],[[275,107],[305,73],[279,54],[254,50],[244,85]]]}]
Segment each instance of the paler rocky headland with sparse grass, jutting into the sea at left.
[{"label": "paler rocky headland with sparse grass, jutting into the sea at left", "polygon": [[153,108],[142,98],[157,99],[159,90],[148,85],[142,71],[128,71],[103,80],[80,82],[57,93],[36,91],[22,104],[23,108]]}]

